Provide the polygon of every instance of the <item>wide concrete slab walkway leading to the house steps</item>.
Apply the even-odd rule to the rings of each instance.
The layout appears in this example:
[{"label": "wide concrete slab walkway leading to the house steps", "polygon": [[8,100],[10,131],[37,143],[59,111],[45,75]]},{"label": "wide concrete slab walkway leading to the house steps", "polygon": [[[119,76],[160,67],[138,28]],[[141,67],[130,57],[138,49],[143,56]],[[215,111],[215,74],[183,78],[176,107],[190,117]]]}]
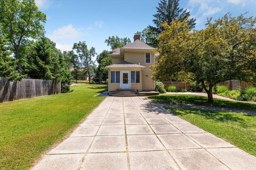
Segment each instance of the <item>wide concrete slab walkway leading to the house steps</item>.
[{"label": "wide concrete slab walkway leading to the house steps", "polygon": [[33,169],[255,169],[256,158],[145,97],[107,97]]}]

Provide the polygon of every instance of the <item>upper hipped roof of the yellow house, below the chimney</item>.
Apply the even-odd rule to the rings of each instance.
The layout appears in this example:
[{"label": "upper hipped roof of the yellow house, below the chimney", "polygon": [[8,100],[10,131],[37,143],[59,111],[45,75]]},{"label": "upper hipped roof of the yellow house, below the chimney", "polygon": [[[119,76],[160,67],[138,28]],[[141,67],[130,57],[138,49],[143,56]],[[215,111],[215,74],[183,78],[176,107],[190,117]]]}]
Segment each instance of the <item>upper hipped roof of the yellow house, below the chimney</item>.
[{"label": "upper hipped roof of the yellow house, below the chimney", "polygon": [[149,49],[150,50],[150,49],[156,49],[156,48],[153,48],[153,47],[147,45],[146,43],[140,41],[139,39],[137,39],[133,43],[128,43],[121,48],[114,49],[112,51],[113,53],[110,55],[120,55],[122,49]]}]

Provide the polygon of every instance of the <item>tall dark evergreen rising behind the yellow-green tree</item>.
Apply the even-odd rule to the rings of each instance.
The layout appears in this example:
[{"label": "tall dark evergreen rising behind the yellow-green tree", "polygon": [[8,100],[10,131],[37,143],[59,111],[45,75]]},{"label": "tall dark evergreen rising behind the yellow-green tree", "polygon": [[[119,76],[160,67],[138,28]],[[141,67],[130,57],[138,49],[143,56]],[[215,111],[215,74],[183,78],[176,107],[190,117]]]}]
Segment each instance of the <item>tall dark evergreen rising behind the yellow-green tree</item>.
[{"label": "tall dark evergreen rising behind the yellow-green tree", "polygon": [[150,46],[157,47],[157,37],[163,31],[161,24],[166,22],[171,24],[172,21],[186,21],[190,28],[194,28],[196,19],[189,18],[190,12],[186,9],[179,8],[179,0],[161,0],[156,7],[157,13],[153,15],[155,19],[153,23],[156,27],[149,25],[142,31],[142,40]]}]

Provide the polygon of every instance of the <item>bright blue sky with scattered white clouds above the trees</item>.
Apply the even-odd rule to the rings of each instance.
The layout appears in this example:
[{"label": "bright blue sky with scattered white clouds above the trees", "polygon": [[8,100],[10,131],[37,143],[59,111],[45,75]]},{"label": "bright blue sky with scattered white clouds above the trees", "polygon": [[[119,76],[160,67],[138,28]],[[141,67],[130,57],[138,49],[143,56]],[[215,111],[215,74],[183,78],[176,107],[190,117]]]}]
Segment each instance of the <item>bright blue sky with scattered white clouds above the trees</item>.
[{"label": "bright blue sky with scattered white clouds above the trees", "polygon": [[[70,50],[78,41],[86,41],[97,53],[110,49],[105,39],[109,36],[129,37],[152,25],[157,0],[137,1],[87,1],[87,0],[35,0],[39,10],[47,15],[46,37],[57,48]],[[204,28],[207,18],[216,19],[230,12],[233,16],[249,12],[256,16],[256,0],[181,0],[180,7],[187,8],[196,18],[196,29]]]}]

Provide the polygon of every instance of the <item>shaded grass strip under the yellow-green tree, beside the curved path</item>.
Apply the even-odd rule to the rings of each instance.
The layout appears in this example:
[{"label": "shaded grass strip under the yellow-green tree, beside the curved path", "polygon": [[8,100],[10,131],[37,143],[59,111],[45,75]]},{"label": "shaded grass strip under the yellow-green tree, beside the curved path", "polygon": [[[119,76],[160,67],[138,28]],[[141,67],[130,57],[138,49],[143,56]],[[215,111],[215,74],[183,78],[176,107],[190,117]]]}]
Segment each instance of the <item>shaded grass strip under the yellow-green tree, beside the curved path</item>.
[{"label": "shaded grass strip under the yellow-green tree, beside the curved path", "polygon": [[250,111],[256,111],[255,104],[242,103],[238,101],[229,101],[223,99],[214,98],[213,103],[207,102],[207,97],[196,96],[196,95],[159,95],[159,96],[148,96],[156,103],[172,103],[172,104],[189,104],[199,106],[217,106],[227,107],[236,109],[246,109]]}]

